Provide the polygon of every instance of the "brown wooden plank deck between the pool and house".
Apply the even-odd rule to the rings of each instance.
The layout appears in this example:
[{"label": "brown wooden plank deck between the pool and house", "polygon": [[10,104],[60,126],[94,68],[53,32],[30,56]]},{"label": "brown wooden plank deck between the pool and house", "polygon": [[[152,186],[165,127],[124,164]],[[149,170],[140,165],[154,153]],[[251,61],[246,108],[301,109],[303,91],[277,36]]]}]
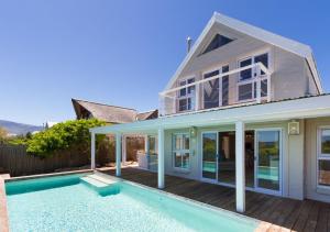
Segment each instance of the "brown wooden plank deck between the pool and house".
[{"label": "brown wooden plank deck between the pool and house", "polygon": [[[103,172],[114,175],[114,169]],[[122,168],[122,178],[157,186],[157,174],[138,168]],[[219,185],[165,177],[165,191],[235,211],[235,191]],[[264,231],[330,231],[330,205],[314,200],[293,200],[253,191],[246,191],[245,216],[267,222]]]}]

